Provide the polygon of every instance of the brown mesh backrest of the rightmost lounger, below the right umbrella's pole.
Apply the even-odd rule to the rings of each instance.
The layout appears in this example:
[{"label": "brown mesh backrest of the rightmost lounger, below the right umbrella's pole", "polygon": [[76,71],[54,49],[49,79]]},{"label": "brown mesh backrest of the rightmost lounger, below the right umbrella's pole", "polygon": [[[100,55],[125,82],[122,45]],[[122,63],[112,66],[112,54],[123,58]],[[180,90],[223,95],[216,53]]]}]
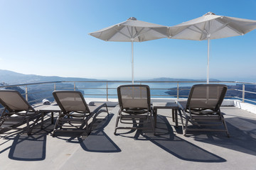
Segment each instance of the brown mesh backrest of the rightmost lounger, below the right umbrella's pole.
[{"label": "brown mesh backrest of the rightmost lounger, below the right umbrella's pole", "polygon": [[186,109],[218,109],[225,98],[228,87],[223,84],[197,84],[192,86]]}]

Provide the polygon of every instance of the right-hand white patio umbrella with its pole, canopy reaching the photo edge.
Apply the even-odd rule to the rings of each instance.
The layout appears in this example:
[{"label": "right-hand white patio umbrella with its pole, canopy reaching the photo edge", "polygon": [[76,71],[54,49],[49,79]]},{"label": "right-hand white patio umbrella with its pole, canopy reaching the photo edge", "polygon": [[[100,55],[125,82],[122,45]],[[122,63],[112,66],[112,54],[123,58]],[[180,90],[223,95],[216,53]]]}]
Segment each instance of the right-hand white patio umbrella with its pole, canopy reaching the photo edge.
[{"label": "right-hand white patio umbrella with its pole, canopy reaching the photo edge", "polygon": [[209,83],[210,39],[228,38],[255,30],[256,21],[217,16],[208,12],[205,15],[169,28],[169,38],[183,40],[208,40],[207,84]]}]

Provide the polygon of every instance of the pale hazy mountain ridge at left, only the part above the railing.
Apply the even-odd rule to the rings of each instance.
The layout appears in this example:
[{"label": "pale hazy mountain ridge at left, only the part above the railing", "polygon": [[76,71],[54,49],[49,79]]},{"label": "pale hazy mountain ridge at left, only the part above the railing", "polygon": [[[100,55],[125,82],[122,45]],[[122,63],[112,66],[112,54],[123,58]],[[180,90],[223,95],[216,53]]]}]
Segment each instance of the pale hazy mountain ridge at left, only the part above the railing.
[{"label": "pale hazy mountain ridge at left, only the part above the railing", "polygon": [[29,84],[45,81],[100,81],[98,79],[85,79],[76,77],[45,77],[35,74],[21,74],[0,69],[0,82],[6,84]]}]

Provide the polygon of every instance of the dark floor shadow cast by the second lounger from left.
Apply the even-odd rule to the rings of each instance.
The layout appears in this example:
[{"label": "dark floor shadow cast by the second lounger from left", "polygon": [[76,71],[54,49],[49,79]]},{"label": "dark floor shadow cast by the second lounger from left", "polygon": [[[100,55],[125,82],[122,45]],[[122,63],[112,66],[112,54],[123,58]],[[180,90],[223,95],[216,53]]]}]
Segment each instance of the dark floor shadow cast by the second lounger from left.
[{"label": "dark floor shadow cast by the second lounger from left", "polygon": [[87,152],[121,152],[121,149],[104,132],[104,128],[110,123],[113,115],[97,118],[90,135],[85,140],[80,139],[82,149]]}]

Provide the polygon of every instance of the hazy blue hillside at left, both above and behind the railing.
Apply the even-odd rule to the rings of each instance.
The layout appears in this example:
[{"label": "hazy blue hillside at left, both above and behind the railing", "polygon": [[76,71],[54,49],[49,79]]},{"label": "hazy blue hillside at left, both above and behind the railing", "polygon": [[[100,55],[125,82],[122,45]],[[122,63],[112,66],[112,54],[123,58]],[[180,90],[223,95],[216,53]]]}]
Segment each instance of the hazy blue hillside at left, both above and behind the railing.
[{"label": "hazy blue hillside at left, both above and behind the railing", "polygon": [[[47,82],[47,81],[100,81],[98,79],[85,79],[85,78],[73,78],[73,77],[44,77],[34,74],[21,74],[17,72],[11,72],[8,70],[0,69],[0,86],[1,85],[14,85],[14,84],[33,84],[38,82]],[[84,91],[78,89],[78,86],[99,86],[101,83],[76,83],[76,91],[81,91],[84,94]],[[19,91],[23,97],[25,94],[24,86],[9,86],[5,89],[13,89]],[[73,82],[60,83],[56,86],[57,90],[70,90],[74,89]],[[30,103],[38,103],[43,100],[43,98],[48,98],[48,100],[53,101],[54,88],[53,84],[36,84],[31,85],[28,88],[28,101]]]}]

